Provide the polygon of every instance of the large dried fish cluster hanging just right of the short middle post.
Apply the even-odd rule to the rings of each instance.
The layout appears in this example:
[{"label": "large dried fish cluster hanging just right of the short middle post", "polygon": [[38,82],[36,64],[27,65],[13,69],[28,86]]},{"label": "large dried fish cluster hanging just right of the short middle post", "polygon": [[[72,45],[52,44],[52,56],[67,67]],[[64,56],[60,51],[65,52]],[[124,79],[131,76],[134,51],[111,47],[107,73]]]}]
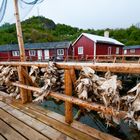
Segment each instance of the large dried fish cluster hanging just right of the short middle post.
[{"label": "large dried fish cluster hanging just right of the short middle post", "polygon": [[[122,83],[117,79],[117,75],[111,75],[110,72],[105,74],[105,77],[100,77],[95,74],[95,71],[89,67],[83,67],[78,80],[76,81],[75,91],[77,96],[87,101],[93,101],[113,107],[119,111],[120,95],[119,90],[122,89]],[[106,119],[109,125],[111,121],[119,123],[117,118],[99,112],[99,115]]]}]

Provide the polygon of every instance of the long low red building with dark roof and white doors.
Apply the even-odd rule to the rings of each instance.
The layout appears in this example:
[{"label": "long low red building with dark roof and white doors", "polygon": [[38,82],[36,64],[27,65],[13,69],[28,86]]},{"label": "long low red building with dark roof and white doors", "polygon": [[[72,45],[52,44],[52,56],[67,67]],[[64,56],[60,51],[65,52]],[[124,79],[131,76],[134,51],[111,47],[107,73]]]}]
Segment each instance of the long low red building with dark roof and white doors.
[{"label": "long low red building with dark roof and white doors", "polygon": [[[71,42],[26,43],[25,54],[29,61],[64,60],[71,54]],[[0,61],[20,60],[17,44],[0,46]]]}]

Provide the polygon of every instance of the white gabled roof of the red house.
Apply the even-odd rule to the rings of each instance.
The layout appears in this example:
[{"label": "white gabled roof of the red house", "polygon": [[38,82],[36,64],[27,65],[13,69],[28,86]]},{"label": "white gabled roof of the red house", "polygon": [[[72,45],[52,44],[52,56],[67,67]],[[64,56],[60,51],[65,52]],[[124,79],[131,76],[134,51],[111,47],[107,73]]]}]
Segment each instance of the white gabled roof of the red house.
[{"label": "white gabled roof of the red house", "polygon": [[112,38],[109,38],[109,37],[93,35],[93,34],[88,34],[88,33],[82,33],[72,45],[74,45],[82,36],[85,36],[85,37],[91,39],[92,41],[94,41],[96,43],[100,42],[100,43],[108,43],[108,44],[115,44],[115,45],[124,46],[123,43],[121,43],[121,42],[119,42],[115,39],[112,39]]}]

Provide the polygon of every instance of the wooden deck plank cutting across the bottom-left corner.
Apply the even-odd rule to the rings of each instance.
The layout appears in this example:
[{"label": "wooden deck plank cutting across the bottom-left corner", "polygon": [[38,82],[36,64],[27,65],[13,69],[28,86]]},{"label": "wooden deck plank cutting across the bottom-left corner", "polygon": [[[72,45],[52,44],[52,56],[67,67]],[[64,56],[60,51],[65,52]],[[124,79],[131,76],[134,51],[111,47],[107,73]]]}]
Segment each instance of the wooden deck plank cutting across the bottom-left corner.
[{"label": "wooden deck plank cutting across the bottom-left corner", "polygon": [[8,140],[27,140],[0,119],[0,133]]}]

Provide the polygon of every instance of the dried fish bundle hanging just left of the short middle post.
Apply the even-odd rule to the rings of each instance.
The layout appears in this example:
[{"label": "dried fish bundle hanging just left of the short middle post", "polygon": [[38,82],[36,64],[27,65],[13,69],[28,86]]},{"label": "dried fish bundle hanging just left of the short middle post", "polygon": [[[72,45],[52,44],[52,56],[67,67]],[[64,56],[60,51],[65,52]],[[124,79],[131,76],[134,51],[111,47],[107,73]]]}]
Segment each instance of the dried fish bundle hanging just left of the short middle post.
[{"label": "dried fish bundle hanging just left of the short middle post", "polygon": [[64,70],[58,69],[56,63],[49,62],[48,67],[41,69],[41,71],[45,72],[42,78],[44,80],[44,86],[41,88],[41,95],[39,95],[34,102],[42,102],[50,91],[64,92]]}]

